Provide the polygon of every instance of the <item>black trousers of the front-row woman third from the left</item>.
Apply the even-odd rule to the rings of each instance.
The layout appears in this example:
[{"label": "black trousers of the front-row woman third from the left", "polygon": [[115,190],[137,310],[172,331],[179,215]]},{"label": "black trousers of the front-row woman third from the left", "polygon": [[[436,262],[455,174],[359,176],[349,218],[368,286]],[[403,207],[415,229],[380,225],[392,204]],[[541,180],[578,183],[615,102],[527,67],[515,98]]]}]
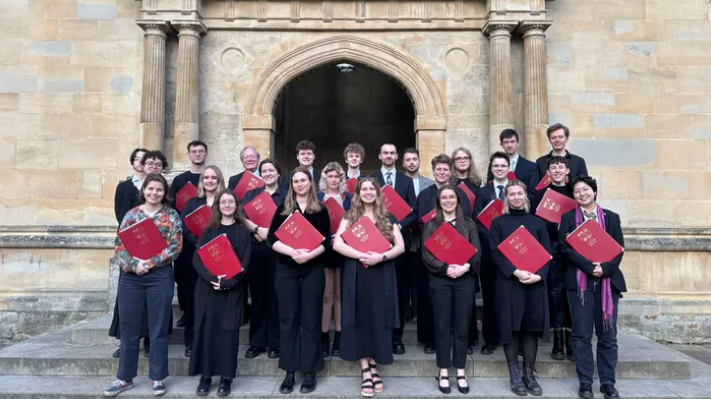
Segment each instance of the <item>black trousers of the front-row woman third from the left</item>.
[{"label": "black trousers of the front-row woman third from the left", "polygon": [[322,370],[323,265],[277,264],[275,286],[281,341],[279,368],[302,373]]}]

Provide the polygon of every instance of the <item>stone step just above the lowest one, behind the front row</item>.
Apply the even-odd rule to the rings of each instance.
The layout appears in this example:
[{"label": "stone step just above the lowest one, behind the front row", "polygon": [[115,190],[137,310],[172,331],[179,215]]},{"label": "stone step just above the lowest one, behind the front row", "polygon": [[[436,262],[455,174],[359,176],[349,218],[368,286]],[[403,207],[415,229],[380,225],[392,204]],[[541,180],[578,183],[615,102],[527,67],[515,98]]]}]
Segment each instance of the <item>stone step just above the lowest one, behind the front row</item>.
[{"label": "stone step just above the lowest one, behind the front row", "polygon": [[[111,354],[116,345],[80,345],[67,343],[68,334],[58,334],[41,340],[28,341],[0,351],[0,374],[18,375],[65,375],[65,376],[113,376],[118,360]],[[689,359],[679,352],[665,348],[652,341],[626,334],[619,336],[619,379],[685,379],[691,378]],[[283,371],[278,361],[268,359],[265,354],[255,359],[244,359],[246,346],[240,347],[238,375],[279,376]],[[182,345],[170,345],[170,373],[173,376],[188,374],[189,359],[183,355]],[[541,345],[539,350],[538,373],[547,378],[574,378],[575,366],[571,361],[555,361],[550,358],[550,346]],[[139,372],[148,370],[148,359],[140,356]],[[323,376],[354,377],[359,368],[353,362],[338,358],[325,360]],[[423,353],[421,347],[409,346],[404,355],[395,356],[392,365],[379,369],[387,377],[430,377],[437,373],[435,355]],[[503,350],[485,356],[478,351],[469,357],[467,373],[474,377],[504,378],[508,368]]]}]

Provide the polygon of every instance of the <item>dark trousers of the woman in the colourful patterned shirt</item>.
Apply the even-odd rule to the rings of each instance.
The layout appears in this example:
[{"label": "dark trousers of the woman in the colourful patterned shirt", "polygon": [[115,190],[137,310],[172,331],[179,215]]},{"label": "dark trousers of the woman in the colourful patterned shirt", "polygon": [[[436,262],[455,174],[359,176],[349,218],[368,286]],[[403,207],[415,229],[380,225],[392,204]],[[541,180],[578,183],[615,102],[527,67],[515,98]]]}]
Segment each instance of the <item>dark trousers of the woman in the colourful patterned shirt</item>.
[{"label": "dark trousers of the woman in the colourful patterned shirt", "polygon": [[164,266],[139,276],[125,273],[119,279],[121,356],[116,378],[130,381],[138,375],[138,345],[144,312],[148,311],[151,339],[148,376],[160,381],[168,376],[168,328],[173,306],[173,268]]}]

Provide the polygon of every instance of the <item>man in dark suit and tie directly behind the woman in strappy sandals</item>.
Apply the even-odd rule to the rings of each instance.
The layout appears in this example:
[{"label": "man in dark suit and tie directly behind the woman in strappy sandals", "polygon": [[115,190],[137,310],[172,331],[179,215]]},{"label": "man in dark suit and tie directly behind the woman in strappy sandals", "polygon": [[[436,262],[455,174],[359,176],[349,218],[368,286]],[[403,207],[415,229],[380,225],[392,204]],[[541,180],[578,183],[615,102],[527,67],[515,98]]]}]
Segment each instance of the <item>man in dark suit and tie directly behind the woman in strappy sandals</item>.
[{"label": "man in dark suit and tie directly behind the woman in strappy sandals", "polygon": [[[390,220],[400,227],[402,238],[405,242],[405,248],[409,248],[412,244],[410,225],[417,218],[417,197],[415,196],[415,188],[412,184],[412,179],[395,169],[395,162],[397,162],[398,156],[397,148],[393,144],[383,144],[380,147],[378,158],[382,166],[375,176],[378,182],[380,182],[380,185],[383,187],[385,185],[392,186],[395,192],[412,208],[412,212],[400,222],[395,220],[392,215],[390,216]],[[415,259],[413,259],[412,254],[412,252],[405,252],[395,259],[395,273],[397,275],[399,298],[405,298],[407,293],[406,287],[410,285],[410,279],[414,272],[412,265],[415,264]],[[405,324],[405,301],[400,300],[398,304],[400,308],[400,328],[393,331],[393,353],[401,355],[405,353],[405,345],[402,343],[402,332]]]}]

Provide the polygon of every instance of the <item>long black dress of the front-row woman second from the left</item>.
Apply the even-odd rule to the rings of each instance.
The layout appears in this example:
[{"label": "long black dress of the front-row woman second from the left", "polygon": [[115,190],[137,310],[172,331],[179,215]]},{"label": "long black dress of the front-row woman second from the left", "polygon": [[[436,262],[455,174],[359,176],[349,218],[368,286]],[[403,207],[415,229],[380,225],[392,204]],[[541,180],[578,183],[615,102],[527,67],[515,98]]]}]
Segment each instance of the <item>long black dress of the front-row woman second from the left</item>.
[{"label": "long black dress of the front-row woman second from the left", "polygon": [[[251,253],[250,233],[243,226],[210,227],[200,237],[200,244],[227,234],[232,248],[242,263],[249,268]],[[239,327],[242,323],[242,276],[245,272],[221,284],[227,288],[217,291],[211,281],[217,282],[195,253],[193,266],[200,276],[195,285],[195,337],[190,357],[190,375],[220,376],[233,379],[237,373]]]}]

